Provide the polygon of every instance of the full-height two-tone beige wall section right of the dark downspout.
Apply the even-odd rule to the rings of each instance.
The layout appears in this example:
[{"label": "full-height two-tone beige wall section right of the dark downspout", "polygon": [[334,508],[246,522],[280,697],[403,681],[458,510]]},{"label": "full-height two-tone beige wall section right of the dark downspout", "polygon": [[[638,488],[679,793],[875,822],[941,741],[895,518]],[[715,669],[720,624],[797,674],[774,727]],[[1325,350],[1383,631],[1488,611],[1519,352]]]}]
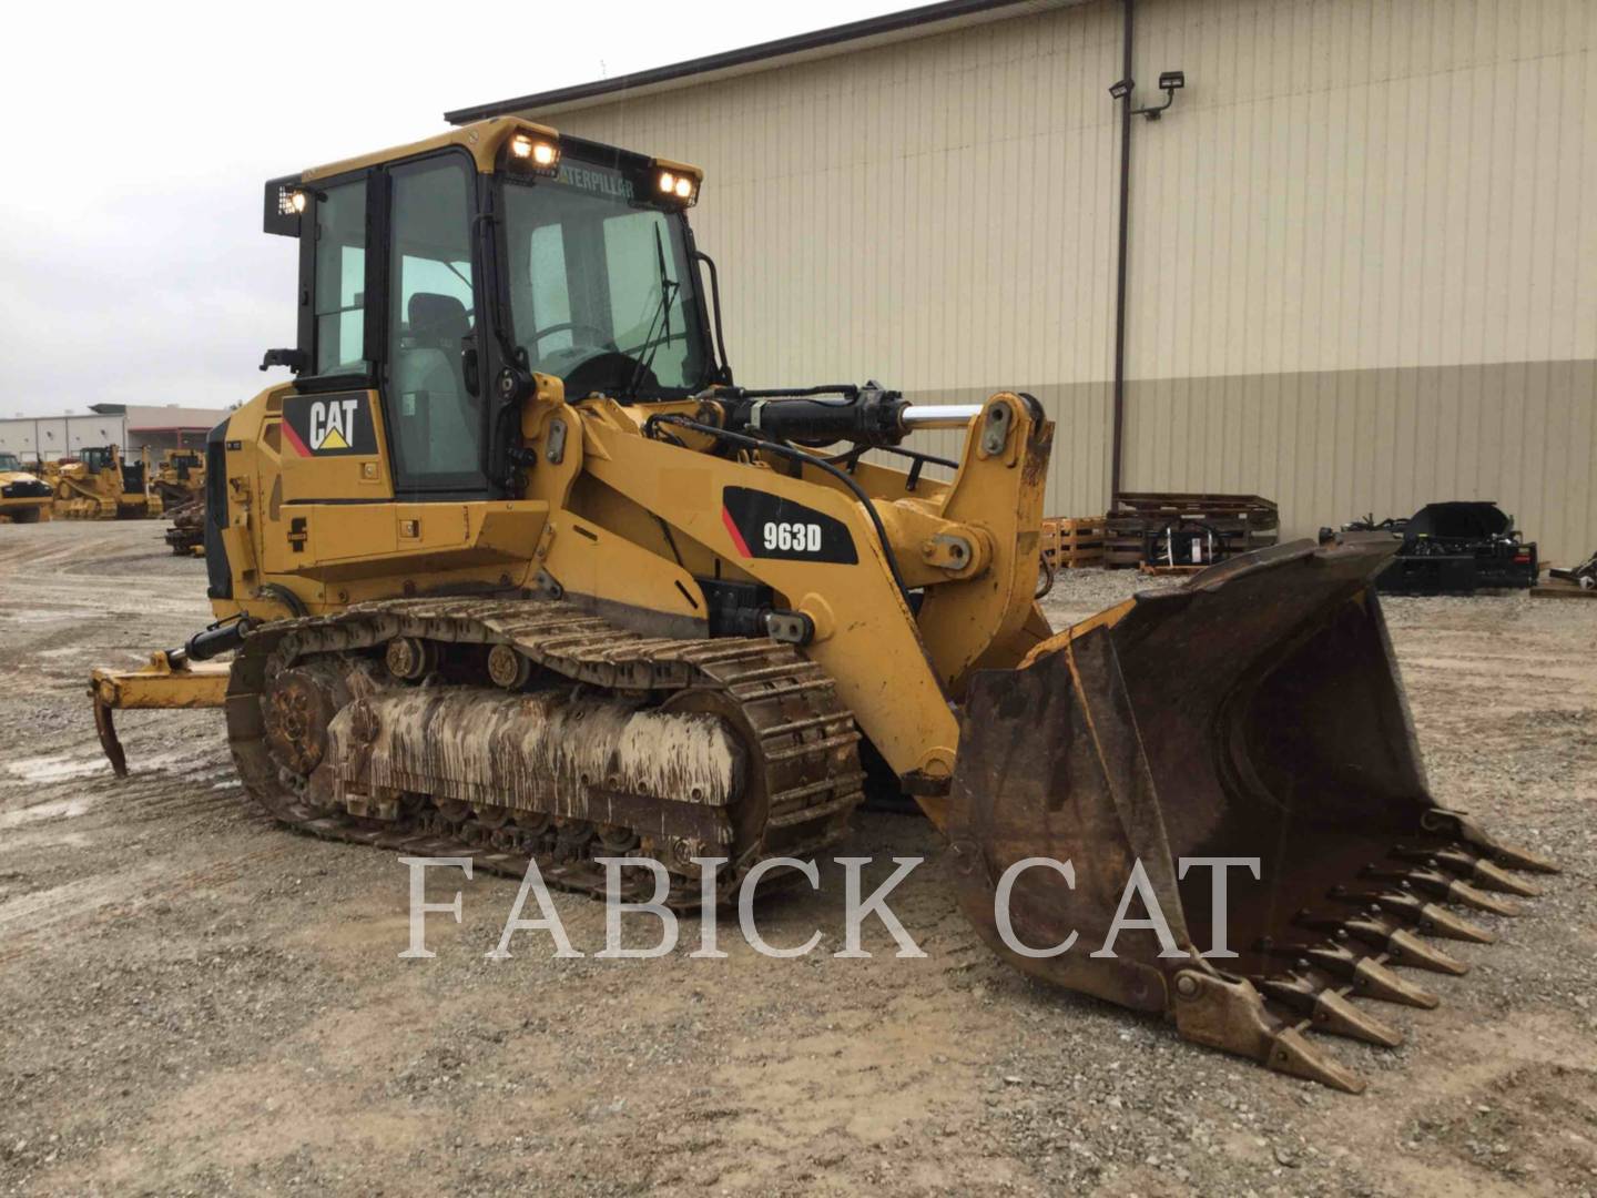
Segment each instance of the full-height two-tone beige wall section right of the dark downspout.
[{"label": "full-height two-tone beige wall section right of the dark downspout", "polygon": [[1188,88],[1134,134],[1127,486],[1597,546],[1597,3],[1139,11]]}]

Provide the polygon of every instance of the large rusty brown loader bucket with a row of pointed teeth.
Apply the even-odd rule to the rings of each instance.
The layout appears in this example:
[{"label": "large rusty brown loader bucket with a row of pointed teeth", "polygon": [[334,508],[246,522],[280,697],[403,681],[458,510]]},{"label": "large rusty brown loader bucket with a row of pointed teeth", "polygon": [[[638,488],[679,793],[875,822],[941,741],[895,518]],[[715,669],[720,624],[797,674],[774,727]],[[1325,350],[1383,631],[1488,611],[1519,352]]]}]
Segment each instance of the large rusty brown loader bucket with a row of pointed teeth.
[{"label": "large rusty brown loader bucket with a row of pointed teeth", "polygon": [[[1492,939],[1466,912],[1535,893],[1508,869],[1552,872],[1426,789],[1373,589],[1394,549],[1345,534],[1250,553],[977,674],[947,831],[984,939],[1188,1040],[1362,1089],[1305,1033],[1396,1045],[1351,1000],[1434,1006],[1391,966],[1463,973],[1431,938]],[[1226,869],[1217,912],[1219,871],[1193,858],[1258,877]],[[1139,864],[1123,920],[1143,926],[1105,955]]]}]

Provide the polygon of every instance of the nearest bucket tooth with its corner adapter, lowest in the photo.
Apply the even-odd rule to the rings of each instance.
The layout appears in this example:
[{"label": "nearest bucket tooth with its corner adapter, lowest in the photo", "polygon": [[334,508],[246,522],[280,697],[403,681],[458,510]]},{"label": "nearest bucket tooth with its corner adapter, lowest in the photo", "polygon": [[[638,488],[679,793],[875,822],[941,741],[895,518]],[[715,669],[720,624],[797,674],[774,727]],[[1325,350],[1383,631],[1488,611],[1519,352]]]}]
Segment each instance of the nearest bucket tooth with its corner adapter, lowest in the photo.
[{"label": "nearest bucket tooth with its corner adapter, lowest in the photo", "polygon": [[1348,1094],[1364,1093],[1364,1080],[1310,1043],[1302,1025],[1287,1024],[1268,1011],[1252,982],[1182,970],[1174,994],[1175,1029],[1183,1040],[1252,1057],[1278,1073]]}]

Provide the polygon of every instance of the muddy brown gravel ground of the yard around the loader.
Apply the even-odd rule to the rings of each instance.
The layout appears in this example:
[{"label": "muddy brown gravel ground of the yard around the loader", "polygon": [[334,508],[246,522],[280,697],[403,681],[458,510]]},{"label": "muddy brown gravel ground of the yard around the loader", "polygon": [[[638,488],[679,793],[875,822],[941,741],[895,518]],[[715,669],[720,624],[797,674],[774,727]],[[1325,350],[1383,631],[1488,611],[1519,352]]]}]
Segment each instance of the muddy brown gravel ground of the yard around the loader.
[{"label": "muddy brown gravel ground of the yard around the loader", "polygon": [[[1565,874],[1495,946],[1381,1006],[1396,1051],[1327,1040],[1349,1097],[1044,990],[955,910],[936,835],[867,815],[850,853],[928,861],[894,893],[926,957],[596,960],[604,910],[556,896],[580,960],[524,933],[514,882],[436,871],[465,922],[401,960],[407,871],[241,800],[219,712],[94,738],[85,679],[208,620],[161,524],[0,527],[0,1192],[890,1195],[1597,1193],[1597,602],[1391,601],[1437,795]],[[1129,594],[1075,572],[1057,620]],[[842,887],[760,930],[842,942]],[[529,912],[530,914],[530,912]],[[1488,920],[1492,922],[1492,920]]]}]

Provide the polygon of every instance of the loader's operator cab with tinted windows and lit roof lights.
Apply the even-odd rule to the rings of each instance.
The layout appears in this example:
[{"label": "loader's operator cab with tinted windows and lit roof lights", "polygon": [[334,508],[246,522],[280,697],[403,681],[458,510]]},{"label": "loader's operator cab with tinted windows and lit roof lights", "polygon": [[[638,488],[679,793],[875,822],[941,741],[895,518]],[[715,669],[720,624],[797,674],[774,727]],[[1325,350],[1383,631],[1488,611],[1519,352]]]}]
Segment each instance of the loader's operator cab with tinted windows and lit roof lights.
[{"label": "loader's operator cab with tinted windows and lit roof lights", "polygon": [[265,363],[297,375],[294,454],[383,458],[396,498],[503,497],[533,372],[621,403],[717,382],[698,184],[511,118],[268,182],[267,232],[300,240],[299,345]]}]

